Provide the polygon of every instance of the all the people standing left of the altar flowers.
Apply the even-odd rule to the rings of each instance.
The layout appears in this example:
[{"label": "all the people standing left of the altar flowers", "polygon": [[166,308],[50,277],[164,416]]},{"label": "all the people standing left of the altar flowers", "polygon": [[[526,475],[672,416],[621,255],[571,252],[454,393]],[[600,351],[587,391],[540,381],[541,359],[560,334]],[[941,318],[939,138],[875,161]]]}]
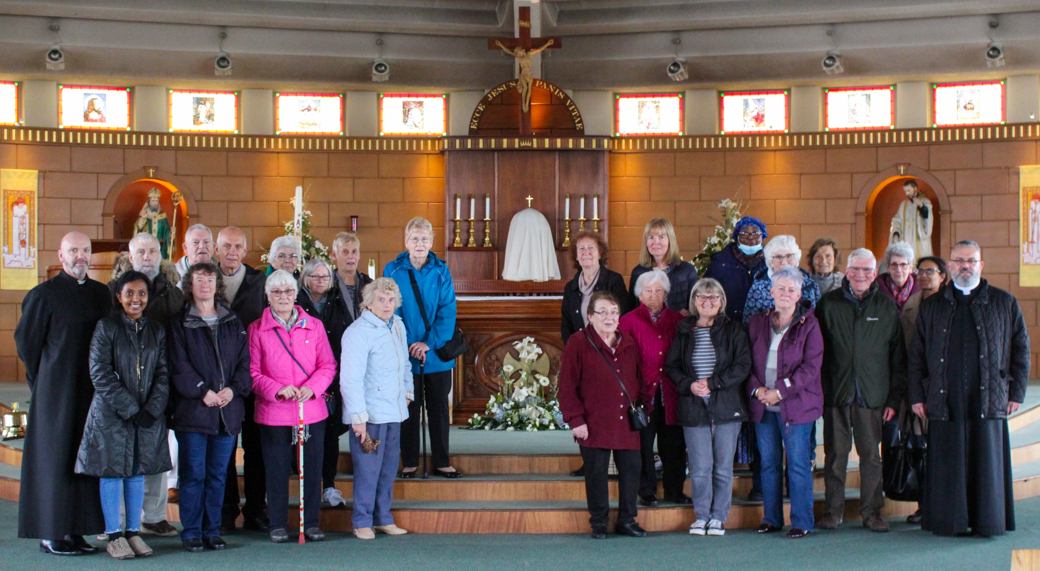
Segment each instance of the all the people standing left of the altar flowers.
[{"label": "all the people standing left of the altar flowers", "polygon": [[185,550],[224,549],[239,515],[285,543],[298,471],[301,534],[322,541],[322,502],[345,505],[335,477],[347,431],[355,536],[407,534],[392,489],[401,460],[399,477],[415,477],[420,407],[434,473],[462,475],[448,461],[453,360],[436,352],[454,333],[454,288],[433,239],[428,220],[412,219],[407,251],[373,279],[353,233],[336,236],[335,268],[301,267],[298,242],[279,238],[265,274],[243,262],[242,230],[214,240],[194,225],[176,264],[162,264],[155,236],[135,235],[106,287],[87,276],[89,238],[67,234],[61,271],[26,295],[15,334],[33,404],[19,537],[75,555],[97,552],[84,536],[100,534],[115,559],[151,555],[142,533],[178,534],[165,518],[176,477]]}]

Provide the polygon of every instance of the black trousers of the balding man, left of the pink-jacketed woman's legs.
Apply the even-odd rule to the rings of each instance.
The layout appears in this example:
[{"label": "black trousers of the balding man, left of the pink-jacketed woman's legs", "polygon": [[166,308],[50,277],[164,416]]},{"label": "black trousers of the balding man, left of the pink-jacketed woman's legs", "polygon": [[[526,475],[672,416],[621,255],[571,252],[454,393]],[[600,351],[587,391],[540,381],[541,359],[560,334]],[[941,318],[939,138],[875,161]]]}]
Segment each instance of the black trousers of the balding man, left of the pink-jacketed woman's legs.
[{"label": "black trousers of the balding man, left of the pink-jacketed woman's legs", "polygon": [[[245,418],[242,419],[242,476],[245,488],[245,504],[242,505],[242,517],[258,518],[267,509],[267,484],[264,481],[263,451],[260,449],[260,425],[253,420],[256,411],[256,396],[245,397]],[[238,469],[235,467],[235,452],[231,453],[228,463],[228,477],[224,486],[224,521],[234,521],[238,518],[238,502],[241,496],[238,492]]]}]

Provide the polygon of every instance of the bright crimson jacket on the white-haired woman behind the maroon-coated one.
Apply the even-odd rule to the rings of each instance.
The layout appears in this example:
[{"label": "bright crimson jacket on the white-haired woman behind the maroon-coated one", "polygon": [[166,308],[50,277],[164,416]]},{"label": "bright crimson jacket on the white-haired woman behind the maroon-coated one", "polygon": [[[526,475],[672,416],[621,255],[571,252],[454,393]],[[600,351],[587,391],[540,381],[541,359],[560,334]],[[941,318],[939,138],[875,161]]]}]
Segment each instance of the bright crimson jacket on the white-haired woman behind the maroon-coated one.
[{"label": "bright crimson jacket on the white-haired woman behind the maroon-coated one", "polygon": [[[619,330],[640,345],[640,353],[643,356],[641,367],[643,379],[649,385],[650,394],[656,394],[657,387],[660,387],[665,421],[669,424],[675,424],[675,407],[679,403],[679,393],[675,392],[674,383],[662,382],[666,379],[665,358],[668,357],[668,349],[675,339],[675,326],[681,320],[681,313],[665,308],[657,322],[654,322],[650,318],[650,310],[640,304],[640,307],[624,314],[618,325]],[[646,405],[649,407],[653,403],[647,401]]]}]

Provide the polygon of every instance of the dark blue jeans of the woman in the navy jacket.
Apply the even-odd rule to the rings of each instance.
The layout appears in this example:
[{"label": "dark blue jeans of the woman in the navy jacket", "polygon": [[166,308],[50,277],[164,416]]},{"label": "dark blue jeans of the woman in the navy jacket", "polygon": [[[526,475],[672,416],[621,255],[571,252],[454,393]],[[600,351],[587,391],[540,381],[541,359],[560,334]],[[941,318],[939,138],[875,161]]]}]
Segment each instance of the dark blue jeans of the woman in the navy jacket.
[{"label": "dark blue jeans of the woman in the navy jacket", "polygon": [[220,535],[224,485],[237,441],[226,434],[177,431],[182,541]]}]

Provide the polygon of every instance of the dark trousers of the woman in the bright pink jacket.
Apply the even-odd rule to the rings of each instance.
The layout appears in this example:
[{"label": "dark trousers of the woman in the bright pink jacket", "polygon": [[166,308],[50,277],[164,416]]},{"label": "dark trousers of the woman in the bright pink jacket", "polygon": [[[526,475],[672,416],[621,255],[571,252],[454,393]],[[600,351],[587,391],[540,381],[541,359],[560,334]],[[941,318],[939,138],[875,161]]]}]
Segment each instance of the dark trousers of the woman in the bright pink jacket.
[{"label": "dark trousers of the woman in the bright pink jacket", "polygon": [[[321,513],[321,457],[324,455],[324,420],[308,424],[311,437],[304,444],[304,528],[317,527]],[[271,529],[288,528],[289,474],[295,464],[292,444],[295,426],[260,425],[260,444],[267,461],[267,514]],[[311,477],[307,477],[310,474]],[[298,517],[293,514],[293,517]]]}]

